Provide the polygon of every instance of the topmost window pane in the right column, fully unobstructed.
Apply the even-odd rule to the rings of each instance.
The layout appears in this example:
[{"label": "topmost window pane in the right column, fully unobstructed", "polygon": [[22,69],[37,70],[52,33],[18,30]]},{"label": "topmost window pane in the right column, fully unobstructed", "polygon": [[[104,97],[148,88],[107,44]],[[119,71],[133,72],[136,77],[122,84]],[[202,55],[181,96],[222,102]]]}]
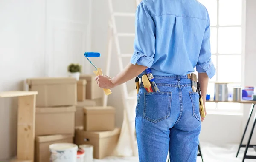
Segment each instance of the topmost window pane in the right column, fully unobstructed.
[{"label": "topmost window pane in the right column, fully unobstructed", "polygon": [[219,25],[241,25],[242,1],[219,0]]}]

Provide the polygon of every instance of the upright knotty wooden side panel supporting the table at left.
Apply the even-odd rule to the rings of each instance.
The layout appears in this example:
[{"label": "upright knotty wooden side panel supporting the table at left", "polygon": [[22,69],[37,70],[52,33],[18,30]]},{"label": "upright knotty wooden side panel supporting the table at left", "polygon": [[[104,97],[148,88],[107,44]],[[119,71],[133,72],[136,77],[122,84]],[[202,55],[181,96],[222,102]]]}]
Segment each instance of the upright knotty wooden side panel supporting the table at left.
[{"label": "upright knotty wooden side panel supporting the table at left", "polygon": [[17,159],[34,160],[36,95],[18,100]]}]

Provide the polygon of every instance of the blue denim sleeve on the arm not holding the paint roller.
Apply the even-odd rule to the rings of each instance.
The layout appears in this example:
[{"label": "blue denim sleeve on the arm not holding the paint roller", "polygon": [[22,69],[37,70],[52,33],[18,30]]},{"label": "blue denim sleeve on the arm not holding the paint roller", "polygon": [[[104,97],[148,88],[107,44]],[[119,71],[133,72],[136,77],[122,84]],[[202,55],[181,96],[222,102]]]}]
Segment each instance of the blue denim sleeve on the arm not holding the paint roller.
[{"label": "blue denim sleeve on the arm not holding the paint roller", "polygon": [[212,63],[211,56],[212,53],[210,44],[210,19],[207,11],[207,25],[205,28],[198,63],[196,65],[196,71],[198,73],[206,73],[209,78],[212,78],[216,74],[216,69]]}]

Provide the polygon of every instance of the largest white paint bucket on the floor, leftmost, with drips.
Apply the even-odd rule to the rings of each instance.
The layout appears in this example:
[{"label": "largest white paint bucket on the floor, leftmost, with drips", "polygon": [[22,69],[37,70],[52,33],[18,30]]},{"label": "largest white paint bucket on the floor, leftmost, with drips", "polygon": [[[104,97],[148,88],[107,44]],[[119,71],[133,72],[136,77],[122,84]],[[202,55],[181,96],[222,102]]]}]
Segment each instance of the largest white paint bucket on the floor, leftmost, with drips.
[{"label": "largest white paint bucket on the floor, leftmost, with drips", "polygon": [[49,145],[50,162],[76,162],[78,146],[73,143],[55,143]]}]

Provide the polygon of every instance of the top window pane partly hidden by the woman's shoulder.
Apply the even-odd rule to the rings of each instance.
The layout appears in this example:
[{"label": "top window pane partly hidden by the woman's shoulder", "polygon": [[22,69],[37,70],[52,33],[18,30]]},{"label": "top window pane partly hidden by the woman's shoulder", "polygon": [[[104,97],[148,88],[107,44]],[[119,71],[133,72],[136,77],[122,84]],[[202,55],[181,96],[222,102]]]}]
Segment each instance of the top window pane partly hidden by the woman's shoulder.
[{"label": "top window pane partly hidden by the woman's shoulder", "polygon": [[217,25],[217,0],[198,0],[206,8],[210,16],[212,26]]}]

